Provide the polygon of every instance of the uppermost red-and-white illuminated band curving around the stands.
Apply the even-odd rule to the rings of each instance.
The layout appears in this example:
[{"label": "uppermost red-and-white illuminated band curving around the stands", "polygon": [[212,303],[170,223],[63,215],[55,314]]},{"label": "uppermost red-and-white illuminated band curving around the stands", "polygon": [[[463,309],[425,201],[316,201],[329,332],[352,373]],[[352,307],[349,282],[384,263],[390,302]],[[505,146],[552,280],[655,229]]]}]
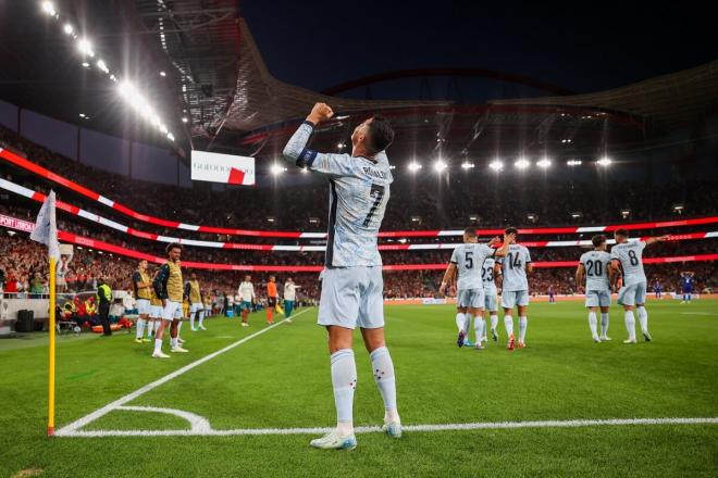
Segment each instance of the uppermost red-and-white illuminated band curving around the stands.
[{"label": "uppermost red-and-white illuminated band curving around the stands", "polygon": [[[236,156],[235,156],[236,158]],[[195,224],[185,224],[177,221],[162,219],[159,217],[150,216],[147,214],[138,213],[126,205],[115,202],[98,192],[92,191],[84,186],[78,185],[63,176],[60,176],[51,171],[46,169],[11,151],[0,148],[0,160],[12,163],[23,169],[35,173],[50,181],[64,186],[79,194],[85,196],[94,201],[111,207],[115,212],[124,214],[136,221],[143,223],[153,224],[156,226],[168,227],[172,229],[194,230],[198,232],[208,234],[223,234],[230,236],[252,236],[252,237],[268,237],[268,238],[293,238],[293,239],[325,239],[326,232],[301,232],[301,231],[284,231],[284,230],[257,230],[257,229],[234,229],[225,227],[214,227]],[[39,194],[39,192],[37,193]],[[58,202],[60,206],[60,201]],[[71,206],[77,209],[75,206]],[[99,216],[98,216],[99,217]],[[110,219],[104,219],[110,221]],[[658,229],[663,227],[684,227],[684,226],[701,226],[707,224],[718,224],[718,216],[690,218],[690,219],[673,219],[673,221],[659,221],[649,223],[632,223],[632,224],[614,224],[608,226],[561,226],[561,227],[531,227],[519,228],[519,234],[523,236],[529,235],[553,235],[553,234],[590,234],[590,232],[611,232],[619,228],[629,230],[636,229]],[[147,232],[141,232],[147,235]],[[380,238],[410,238],[410,237],[449,237],[461,236],[462,229],[451,230],[385,230],[380,231]],[[504,229],[476,229],[479,236],[496,236],[504,234]],[[233,249],[233,248],[230,248]]]}]

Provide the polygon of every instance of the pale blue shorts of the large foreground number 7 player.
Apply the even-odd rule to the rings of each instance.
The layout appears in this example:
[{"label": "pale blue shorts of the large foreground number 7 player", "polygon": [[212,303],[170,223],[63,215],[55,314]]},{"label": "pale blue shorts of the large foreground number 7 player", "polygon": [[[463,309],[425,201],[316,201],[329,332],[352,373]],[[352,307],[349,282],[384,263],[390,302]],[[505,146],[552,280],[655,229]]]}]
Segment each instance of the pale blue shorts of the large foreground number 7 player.
[{"label": "pale blue shorts of the large foreground number 7 player", "polygon": [[382,266],[327,267],[322,279],[319,325],[384,327]]}]

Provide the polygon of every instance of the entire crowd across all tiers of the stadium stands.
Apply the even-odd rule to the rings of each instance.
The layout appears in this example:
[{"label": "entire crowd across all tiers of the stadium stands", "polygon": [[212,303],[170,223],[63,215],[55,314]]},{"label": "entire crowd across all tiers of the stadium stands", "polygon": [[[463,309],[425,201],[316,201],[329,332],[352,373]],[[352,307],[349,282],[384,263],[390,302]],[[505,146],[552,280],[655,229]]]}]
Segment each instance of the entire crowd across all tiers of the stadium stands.
[{"label": "entire crowd across all tiers of the stadium stands", "polygon": [[[277,178],[276,186],[212,191],[208,185],[195,188],[158,185],[129,179],[122,175],[100,172],[76,161],[48,151],[14,133],[0,127],[0,146],[27,156],[50,171],[87,186],[102,194],[124,203],[140,213],[181,221],[190,224],[203,224],[221,227],[250,229],[283,229],[319,231],[326,227],[326,184],[323,180],[295,176],[290,184]],[[480,228],[499,228],[507,224],[518,226],[532,225],[579,225],[608,224],[620,222],[656,221],[676,218],[673,205],[681,204],[681,213],[690,216],[715,214],[718,203],[718,189],[715,180],[670,181],[653,185],[651,188],[640,183],[602,183],[601,187],[586,187],[568,180],[537,181],[528,190],[520,181],[486,180],[478,187],[480,179],[468,180],[455,176],[447,183],[437,180],[433,175],[410,176],[397,171],[383,223],[384,230],[397,229],[461,229],[468,225]],[[95,203],[61,186],[49,183],[39,176],[0,162],[0,177],[23,186],[48,192],[53,188],[59,199],[78,205],[89,212],[117,221],[138,230],[162,234],[171,237],[185,237],[212,241],[256,242],[262,239],[249,237],[226,237],[199,235],[196,232],[166,229],[139,223],[120,215],[113,210]],[[595,186],[595,185],[594,185]],[[34,221],[39,204],[0,190],[0,214],[7,214],[26,221]],[[321,200],[318,200],[321,198]],[[222,206],[218,206],[222,204]],[[311,204],[308,207],[307,204]],[[224,206],[227,205],[227,206]],[[473,206],[475,205],[475,206]],[[621,210],[630,210],[627,217]],[[528,218],[531,212],[533,219]],[[581,217],[571,218],[570,214],[580,212]],[[273,222],[268,222],[268,217]],[[416,217],[414,217],[416,216]],[[309,219],[317,222],[310,224]],[[533,224],[536,223],[536,224]],[[79,236],[101,240],[115,246],[163,256],[165,243],[153,242],[119,232],[96,223],[59,212],[59,228]],[[680,228],[660,232],[680,232],[706,230],[705,228]],[[631,231],[632,236],[655,235],[656,230]],[[590,239],[584,235],[582,239]],[[527,236],[524,240],[575,240],[575,235],[565,236]],[[396,240],[396,239],[395,239]],[[482,238],[482,240],[485,240]],[[408,242],[456,242],[459,237],[409,238]],[[267,241],[264,241],[267,242]],[[274,240],[271,243],[307,243],[292,240]],[[270,243],[267,242],[267,243]],[[383,243],[388,243],[383,241]],[[395,243],[395,242],[394,242]],[[652,247],[646,256],[673,256],[715,252],[718,240],[685,240],[665,242]],[[532,248],[534,262],[575,261],[585,249]],[[428,251],[385,251],[382,253],[385,264],[446,264],[450,250]],[[259,252],[218,250],[208,248],[186,248],[184,261],[208,263],[252,264],[252,265],[321,265],[323,252]],[[20,294],[38,297],[47,292],[47,263],[42,247],[28,240],[27,235],[17,232],[11,237],[0,229],[0,269],[4,272],[5,292],[16,290]],[[65,275],[69,291],[94,290],[98,278],[102,277],[113,289],[128,289],[129,277],[136,267],[135,260],[116,256],[100,251],[90,251],[75,247],[74,256]],[[678,281],[683,268],[696,272],[700,289],[715,289],[717,284],[715,263],[663,264],[649,265],[646,273],[649,280],[657,277],[670,290]],[[572,293],[572,267],[535,269],[530,278],[532,291],[545,293],[549,286],[559,293]],[[242,272],[197,271],[199,280],[206,290],[216,297],[236,293],[243,279]],[[300,299],[315,300],[320,293],[319,275],[315,273],[292,274],[301,286]],[[283,284],[287,274],[280,274],[277,282]],[[441,281],[441,271],[410,271],[385,273],[385,295],[387,298],[434,297]],[[264,281],[269,274],[253,274],[252,280],[261,298]]]}]

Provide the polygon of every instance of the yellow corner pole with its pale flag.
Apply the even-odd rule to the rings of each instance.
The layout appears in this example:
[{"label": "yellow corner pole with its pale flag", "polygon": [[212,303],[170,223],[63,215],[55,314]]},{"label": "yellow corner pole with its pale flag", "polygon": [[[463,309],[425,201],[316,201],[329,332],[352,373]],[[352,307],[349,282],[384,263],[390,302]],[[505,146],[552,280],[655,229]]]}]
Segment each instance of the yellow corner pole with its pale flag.
[{"label": "yellow corner pole with its pale flag", "polygon": [[54,274],[55,264],[60,259],[60,243],[58,242],[58,224],[54,215],[54,191],[50,191],[42,207],[37,214],[35,229],[30,239],[48,247],[50,259],[50,367],[48,378],[48,437],[54,435]]}]

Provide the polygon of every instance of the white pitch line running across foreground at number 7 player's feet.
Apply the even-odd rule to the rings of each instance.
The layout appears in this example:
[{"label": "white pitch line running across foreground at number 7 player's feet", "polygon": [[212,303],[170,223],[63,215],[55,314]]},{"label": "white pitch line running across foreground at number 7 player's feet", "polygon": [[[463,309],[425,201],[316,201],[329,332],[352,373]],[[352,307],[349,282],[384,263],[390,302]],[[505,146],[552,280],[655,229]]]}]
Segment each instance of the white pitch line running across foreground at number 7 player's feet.
[{"label": "white pitch line running across foreground at number 7 player's feet", "polygon": [[[495,422],[474,424],[445,424],[445,425],[407,425],[405,431],[465,431],[465,430],[498,430],[516,428],[579,428],[605,426],[636,426],[636,425],[718,425],[718,417],[708,418],[609,418],[609,419],[575,419],[575,420],[545,420],[545,422]],[[63,430],[65,430],[63,428]],[[248,428],[235,430],[60,430],[55,436],[69,438],[101,438],[101,437],[227,437],[227,436],[256,436],[256,435],[321,435],[332,428]],[[61,432],[62,431],[62,432]],[[381,427],[357,427],[356,433],[375,433],[382,431]]]}]

